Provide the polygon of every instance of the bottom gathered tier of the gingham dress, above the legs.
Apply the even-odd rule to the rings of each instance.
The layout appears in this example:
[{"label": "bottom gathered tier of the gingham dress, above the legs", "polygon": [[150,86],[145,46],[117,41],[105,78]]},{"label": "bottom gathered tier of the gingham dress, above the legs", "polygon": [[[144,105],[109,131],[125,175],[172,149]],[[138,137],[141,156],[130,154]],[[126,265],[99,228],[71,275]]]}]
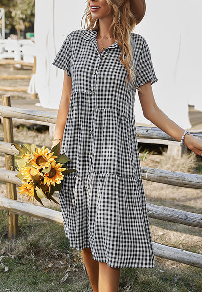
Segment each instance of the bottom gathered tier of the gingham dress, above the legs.
[{"label": "bottom gathered tier of the gingham dress, above the legs", "polygon": [[90,247],[110,267],[155,267],[142,179],[66,175],[61,210],[70,246]]}]

